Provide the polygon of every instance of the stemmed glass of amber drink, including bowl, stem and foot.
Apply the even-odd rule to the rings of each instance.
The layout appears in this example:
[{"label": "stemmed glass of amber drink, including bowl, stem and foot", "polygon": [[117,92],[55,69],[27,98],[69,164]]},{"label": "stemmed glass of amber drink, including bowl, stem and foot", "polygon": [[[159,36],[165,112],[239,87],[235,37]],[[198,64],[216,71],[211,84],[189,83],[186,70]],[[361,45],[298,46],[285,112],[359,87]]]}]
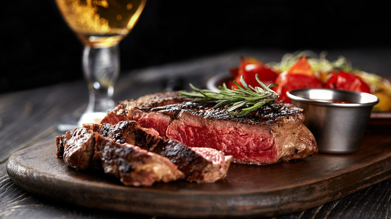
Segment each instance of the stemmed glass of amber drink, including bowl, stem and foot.
[{"label": "stemmed glass of amber drink, including bowl, stem and foot", "polygon": [[[146,0],[55,0],[66,23],[83,42],[83,74],[89,101],[78,124],[100,122],[112,99],[119,76],[119,42],[133,28]],[[73,128],[73,127],[71,127]],[[59,125],[59,129],[70,129]]]}]

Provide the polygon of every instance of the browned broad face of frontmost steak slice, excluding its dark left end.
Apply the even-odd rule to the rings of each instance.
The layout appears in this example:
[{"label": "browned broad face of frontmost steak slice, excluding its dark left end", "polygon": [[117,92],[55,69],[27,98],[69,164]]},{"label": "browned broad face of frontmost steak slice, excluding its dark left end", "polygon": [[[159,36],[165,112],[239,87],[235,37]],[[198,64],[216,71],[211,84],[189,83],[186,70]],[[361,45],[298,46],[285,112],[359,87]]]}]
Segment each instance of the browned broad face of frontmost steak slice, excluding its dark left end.
[{"label": "browned broad face of frontmost steak slice, excluding its dark left end", "polygon": [[150,186],[156,181],[183,178],[183,173],[166,157],[138,146],[117,143],[100,134],[96,136],[96,150],[100,151],[105,173],[116,176],[125,185]]}]

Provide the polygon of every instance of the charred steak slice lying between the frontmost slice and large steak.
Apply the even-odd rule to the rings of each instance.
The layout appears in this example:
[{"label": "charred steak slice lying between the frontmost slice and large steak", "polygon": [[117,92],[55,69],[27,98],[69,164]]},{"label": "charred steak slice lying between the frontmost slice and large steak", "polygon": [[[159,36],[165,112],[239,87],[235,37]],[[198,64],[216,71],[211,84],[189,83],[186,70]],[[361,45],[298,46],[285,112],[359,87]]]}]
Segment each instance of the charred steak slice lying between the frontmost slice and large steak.
[{"label": "charred steak slice lying between the frontmost slice and large steak", "polygon": [[89,123],[84,127],[116,142],[134,144],[167,157],[190,182],[215,182],[225,178],[232,160],[232,156],[225,156],[213,148],[192,149],[179,141],[161,137],[154,129],[143,128],[134,120],[114,125]]}]

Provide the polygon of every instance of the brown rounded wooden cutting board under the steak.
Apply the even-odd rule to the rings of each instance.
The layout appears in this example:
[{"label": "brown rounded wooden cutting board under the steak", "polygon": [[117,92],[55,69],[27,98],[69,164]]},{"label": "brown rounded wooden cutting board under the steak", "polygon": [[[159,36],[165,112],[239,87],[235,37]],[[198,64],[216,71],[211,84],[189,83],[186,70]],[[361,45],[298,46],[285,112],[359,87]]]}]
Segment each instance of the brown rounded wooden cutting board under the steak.
[{"label": "brown rounded wooden cutting board under the steak", "polygon": [[55,140],[14,153],[7,171],[27,191],[70,203],[179,217],[274,216],[344,197],[391,176],[391,134],[367,133],[359,151],[315,154],[269,166],[232,164],[216,183],[177,181],[128,187],[77,171],[55,155]]}]

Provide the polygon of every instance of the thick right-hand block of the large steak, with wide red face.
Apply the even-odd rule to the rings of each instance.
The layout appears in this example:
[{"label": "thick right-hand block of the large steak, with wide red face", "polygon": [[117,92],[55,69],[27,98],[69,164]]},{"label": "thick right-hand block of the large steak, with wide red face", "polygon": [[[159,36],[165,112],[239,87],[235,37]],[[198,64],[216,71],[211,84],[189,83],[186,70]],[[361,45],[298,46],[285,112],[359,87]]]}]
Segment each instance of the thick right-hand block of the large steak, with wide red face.
[{"label": "thick right-hand block of the large steak, with wide red face", "polygon": [[233,155],[236,163],[270,164],[317,153],[315,138],[303,124],[304,114],[288,103],[273,107],[277,112],[263,107],[243,117],[213,108],[181,110],[166,135],[190,147],[222,150]]}]

